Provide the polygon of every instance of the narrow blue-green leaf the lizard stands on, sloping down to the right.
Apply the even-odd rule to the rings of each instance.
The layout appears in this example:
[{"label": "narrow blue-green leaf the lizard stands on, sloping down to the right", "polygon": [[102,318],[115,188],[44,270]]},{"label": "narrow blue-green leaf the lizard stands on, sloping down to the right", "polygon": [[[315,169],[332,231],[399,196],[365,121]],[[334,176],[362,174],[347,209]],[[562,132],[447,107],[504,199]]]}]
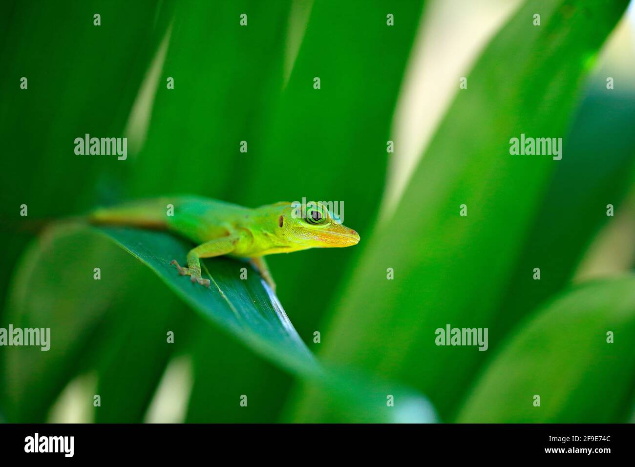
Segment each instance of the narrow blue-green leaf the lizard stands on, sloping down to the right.
[{"label": "narrow blue-green leaf the lizard stands on, sloping down to the right", "polygon": [[[168,287],[208,320],[283,369],[323,385],[340,407],[339,413],[347,413],[349,421],[435,420],[431,405],[408,388],[368,381],[336,367],[321,367],[264,280],[253,270],[247,280],[239,279],[246,263],[224,257],[204,260],[201,266],[212,281],[210,290],[179,276],[170,266],[171,259],[187,255],[189,245],[184,241],[169,234],[135,229],[100,230],[159,274]],[[390,410],[392,407],[386,405],[389,394],[401,399],[408,410]]]}]

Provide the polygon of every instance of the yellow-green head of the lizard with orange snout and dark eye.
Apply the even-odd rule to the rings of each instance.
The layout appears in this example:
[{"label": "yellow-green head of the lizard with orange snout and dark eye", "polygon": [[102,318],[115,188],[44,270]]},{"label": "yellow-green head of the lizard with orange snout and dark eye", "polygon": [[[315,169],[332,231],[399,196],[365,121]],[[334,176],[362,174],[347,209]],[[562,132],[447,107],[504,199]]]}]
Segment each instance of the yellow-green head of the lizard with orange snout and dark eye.
[{"label": "yellow-green head of the lizard with orange snout and dark eye", "polygon": [[307,203],[304,209],[291,203],[276,206],[280,208],[276,213],[276,236],[286,245],[286,251],[352,247],[359,241],[359,234],[342,225],[322,203]]}]

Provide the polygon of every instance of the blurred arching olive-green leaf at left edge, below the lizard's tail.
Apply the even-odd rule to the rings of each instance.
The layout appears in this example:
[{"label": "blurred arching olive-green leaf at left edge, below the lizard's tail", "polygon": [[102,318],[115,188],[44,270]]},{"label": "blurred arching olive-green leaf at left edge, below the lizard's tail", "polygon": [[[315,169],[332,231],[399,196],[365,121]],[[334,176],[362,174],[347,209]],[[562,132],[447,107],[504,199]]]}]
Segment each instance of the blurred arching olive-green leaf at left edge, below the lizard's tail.
[{"label": "blurred arching olive-green leaf at left edge, below the lizard's tail", "polygon": [[[48,351],[3,347],[0,362],[10,377],[0,388],[10,421],[46,419],[51,403],[83,368],[82,356],[99,334],[98,323],[109,308],[121,305],[118,290],[135,280],[135,274],[112,274],[126,264],[126,255],[109,243],[86,231],[58,227],[23,255],[0,327],[50,328],[51,342]],[[93,280],[95,267],[107,281]]]}]

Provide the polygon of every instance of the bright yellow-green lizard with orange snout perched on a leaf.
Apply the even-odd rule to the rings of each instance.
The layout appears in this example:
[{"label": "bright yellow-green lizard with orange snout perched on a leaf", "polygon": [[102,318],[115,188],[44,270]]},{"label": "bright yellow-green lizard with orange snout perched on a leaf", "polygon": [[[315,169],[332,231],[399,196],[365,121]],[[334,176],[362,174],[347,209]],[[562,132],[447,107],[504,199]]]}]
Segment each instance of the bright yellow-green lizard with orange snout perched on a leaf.
[{"label": "bright yellow-green lizard with orange snout perched on a leaf", "polygon": [[[170,205],[173,215],[168,215]],[[93,224],[162,229],[194,241],[198,246],[187,254],[187,267],[179,266],[176,259],[171,264],[204,287],[210,287],[210,280],[201,276],[201,258],[250,258],[275,291],[264,255],[350,247],[359,241],[358,233],[338,222],[326,206],[307,206],[303,213],[302,208],[284,201],[251,209],[198,196],[177,196],[98,208],[88,219]]]}]

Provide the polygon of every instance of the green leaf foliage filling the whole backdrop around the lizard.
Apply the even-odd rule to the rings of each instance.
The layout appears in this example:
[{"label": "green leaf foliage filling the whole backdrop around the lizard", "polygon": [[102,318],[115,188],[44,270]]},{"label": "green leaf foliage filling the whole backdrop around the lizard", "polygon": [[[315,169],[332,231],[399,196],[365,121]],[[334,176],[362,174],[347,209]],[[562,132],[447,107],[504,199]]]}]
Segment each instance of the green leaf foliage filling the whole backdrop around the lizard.
[{"label": "green leaf foliage filling the whole backdrop around the lizard", "polygon": [[[94,421],[144,421],[180,356],[192,365],[187,422],[629,420],[635,276],[572,287],[613,219],[606,205],[620,213],[634,187],[635,95],[592,74],[627,2],[521,4],[379,224],[386,141],[425,6],[1,4],[0,327],[50,327],[53,339],[48,352],[0,348],[4,420],[50,419],[69,381],[91,374],[102,398]],[[76,137],[123,136],[131,112],[142,120],[135,102],[152,79],[140,151],[126,161],[74,154]],[[509,156],[519,133],[563,135],[563,159]],[[245,265],[229,259],[204,263],[211,290],[190,287],[169,267],[189,245],[168,234],[30,228],[32,219],[173,193],[246,206],[341,200],[362,241],[272,256],[274,297],[254,271],[239,280]],[[489,328],[490,348],[436,346],[446,323]],[[175,344],[166,344],[169,330]]]}]

